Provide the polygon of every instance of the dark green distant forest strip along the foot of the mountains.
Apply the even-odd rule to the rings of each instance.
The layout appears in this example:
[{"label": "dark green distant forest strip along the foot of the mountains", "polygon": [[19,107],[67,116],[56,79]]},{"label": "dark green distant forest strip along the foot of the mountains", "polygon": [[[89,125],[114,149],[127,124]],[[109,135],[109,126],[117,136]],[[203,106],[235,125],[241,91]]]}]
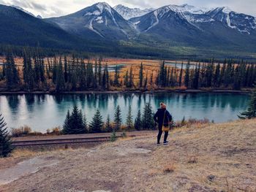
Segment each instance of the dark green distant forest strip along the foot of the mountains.
[{"label": "dark green distant forest strip along the foot of the mountains", "polygon": [[[144,58],[144,59],[168,59],[168,60],[190,60],[207,62],[209,55],[216,55],[215,61],[222,63],[225,58],[233,58],[235,62],[244,59],[246,61],[256,61],[253,56],[239,55],[239,53],[200,53],[201,50],[195,51],[195,53],[182,53],[180,51],[170,50],[166,47],[151,47],[148,45],[140,45],[133,43],[127,45],[121,42],[102,42],[95,44],[95,42],[88,42],[85,45],[86,49],[65,49],[65,48],[54,48],[54,47],[40,47],[40,53],[43,57],[54,57],[54,55],[75,55],[79,58],[95,58],[101,57],[113,57],[113,58]],[[31,46],[19,46],[19,45],[5,45],[0,44],[0,55],[7,55],[7,52],[12,52],[13,55],[22,57],[24,49],[27,53],[34,53],[37,47]]]}]

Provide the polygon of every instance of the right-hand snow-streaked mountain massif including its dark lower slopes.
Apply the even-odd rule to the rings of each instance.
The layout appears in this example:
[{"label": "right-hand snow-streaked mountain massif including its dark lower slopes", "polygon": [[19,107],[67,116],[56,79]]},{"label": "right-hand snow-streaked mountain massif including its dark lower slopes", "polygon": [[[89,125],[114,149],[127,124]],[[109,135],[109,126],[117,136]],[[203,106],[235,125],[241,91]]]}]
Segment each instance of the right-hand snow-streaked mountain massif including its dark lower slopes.
[{"label": "right-hand snow-streaked mountain massif including its dark lower slopes", "polygon": [[[227,14],[227,13],[223,13]],[[212,10],[199,9],[197,7],[184,4],[181,6],[168,5],[149,12],[138,18],[129,19],[135,28],[140,31],[138,39],[145,41],[151,39],[153,42],[169,43],[170,45],[192,45],[192,46],[219,46],[248,45],[256,42],[256,29],[254,21],[247,23],[246,20],[253,20],[249,15],[227,14],[230,23],[223,23],[218,14],[213,14]],[[236,28],[233,27],[232,17],[240,20]],[[225,22],[227,19],[225,18]],[[246,21],[247,22],[247,21]],[[250,28],[250,35],[242,33],[241,27]],[[150,37],[150,38],[149,38]]]}]

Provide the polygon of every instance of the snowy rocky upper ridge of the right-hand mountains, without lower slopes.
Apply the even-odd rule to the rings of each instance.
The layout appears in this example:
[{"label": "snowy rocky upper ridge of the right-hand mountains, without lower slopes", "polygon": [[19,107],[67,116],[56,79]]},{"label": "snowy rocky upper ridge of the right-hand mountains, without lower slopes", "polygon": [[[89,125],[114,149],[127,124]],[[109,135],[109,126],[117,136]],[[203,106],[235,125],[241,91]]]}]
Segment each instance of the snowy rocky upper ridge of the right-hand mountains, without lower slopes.
[{"label": "snowy rocky upper ridge of the right-hand mountains, without lower slopes", "polygon": [[[221,22],[224,26],[235,29],[240,33],[251,34],[251,32],[256,29],[255,17],[233,12],[227,7],[206,9],[197,8],[188,4],[183,4],[181,6],[168,5],[160,7],[159,9],[154,10],[154,12],[150,12],[146,15],[139,18],[131,18],[130,21],[136,28],[140,29],[140,31],[148,31],[154,26],[157,26],[159,20],[167,21],[168,18],[169,20],[172,20],[173,18],[183,19],[184,23],[189,23],[189,25],[202,30],[203,28],[200,27],[200,23],[209,23],[210,25],[211,23],[216,22]],[[145,18],[148,18],[148,20]],[[145,23],[148,23],[148,25]],[[169,25],[170,24],[171,23],[169,23]]]}]

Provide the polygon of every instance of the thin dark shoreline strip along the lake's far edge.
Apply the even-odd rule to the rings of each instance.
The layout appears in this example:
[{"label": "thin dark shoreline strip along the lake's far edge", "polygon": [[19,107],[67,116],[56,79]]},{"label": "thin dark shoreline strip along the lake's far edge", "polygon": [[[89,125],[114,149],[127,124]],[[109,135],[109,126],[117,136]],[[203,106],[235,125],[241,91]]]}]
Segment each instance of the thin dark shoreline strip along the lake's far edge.
[{"label": "thin dark shoreline strip along the lake's far edge", "polygon": [[3,91],[0,95],[10,95],[10,94],[49,94],[49,95],[59,95],[59,94],[117,94],[117,93],[252,93],[252,91],[235,91],[235,90],[197,90],[197,89],[187,89],[187,90],[154,90],[154,91],[63,91],[60,93],[50,92],[50,91]]}]

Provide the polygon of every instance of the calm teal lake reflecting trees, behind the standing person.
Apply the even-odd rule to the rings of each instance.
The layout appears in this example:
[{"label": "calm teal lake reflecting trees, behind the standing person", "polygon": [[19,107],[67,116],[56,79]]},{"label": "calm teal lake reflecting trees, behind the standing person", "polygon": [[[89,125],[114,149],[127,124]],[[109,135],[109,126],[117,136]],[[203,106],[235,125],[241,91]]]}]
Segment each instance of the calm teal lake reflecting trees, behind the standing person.
[{"label": "calm teal lake reflecting trees, behind the standing person", "polygon": [[120,105],[124,123],[129,105],[135,118],[146,102],[156,111],[159,102],[164,101],[175,120],[185,116],[225,122],[236,119],[238,113],[246,109],[248,99],[248,95],[236,93],[2,95],[0,112],[10,128],[28,125],[34,131],[44,132],[47,128],[61,126],[67,110],[72,110],[75,104],[86,113],[89,121],[97,109],[104,120],[108,114],[113,119],[115,108]]}]

